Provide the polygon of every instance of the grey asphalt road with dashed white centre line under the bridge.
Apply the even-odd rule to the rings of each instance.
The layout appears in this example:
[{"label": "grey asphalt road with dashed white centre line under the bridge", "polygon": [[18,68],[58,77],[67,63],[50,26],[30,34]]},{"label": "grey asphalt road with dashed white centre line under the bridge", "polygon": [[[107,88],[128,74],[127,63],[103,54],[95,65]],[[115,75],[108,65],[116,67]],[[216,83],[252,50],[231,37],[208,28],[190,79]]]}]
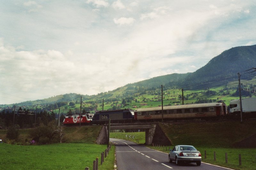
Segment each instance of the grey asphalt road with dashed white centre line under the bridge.
[{"label": "grey asphalt road with dashed white centre line under the bridge", "polygon": [[177,166],[174,162],[168,162],[168,154],[154,149],[138,145],[134,142],[110,138],[116,145],[116,162],[118,170],[227,170],[219,166],[213,166],[202,162],[201,166],[196,163],[181,164]]}]

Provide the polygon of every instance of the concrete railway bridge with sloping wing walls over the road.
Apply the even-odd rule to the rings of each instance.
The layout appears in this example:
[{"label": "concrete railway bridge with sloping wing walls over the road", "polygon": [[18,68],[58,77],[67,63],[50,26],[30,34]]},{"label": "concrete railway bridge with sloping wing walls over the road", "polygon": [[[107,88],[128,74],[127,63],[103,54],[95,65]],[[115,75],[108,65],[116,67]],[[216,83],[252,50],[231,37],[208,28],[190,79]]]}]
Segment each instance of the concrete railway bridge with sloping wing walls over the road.
[{"label": "concrete railway bridge with sloping wing walls over the road", "polygon": [[[171,141],[165,136],[158,123],[112,123],[110,124],[110,130],[121,130],[121,129],[140,129],[145,130],[145,144],[164,144],[170,145]],[[97,144],[108,143],[108,124],[104,125],[100,131],[100,135],[97,139]]]}]

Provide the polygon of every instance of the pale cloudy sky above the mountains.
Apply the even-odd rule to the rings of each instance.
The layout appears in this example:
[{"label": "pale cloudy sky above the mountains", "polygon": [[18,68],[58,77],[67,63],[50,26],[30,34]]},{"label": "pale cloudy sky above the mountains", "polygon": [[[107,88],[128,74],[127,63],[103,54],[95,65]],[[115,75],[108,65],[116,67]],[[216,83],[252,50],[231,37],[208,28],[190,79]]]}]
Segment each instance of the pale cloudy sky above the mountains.
[{"label": "pale cloudy sky above the mountains", "polygon": [[254,0],[0,4],[0,104],[194,72],[224,50],[256,44]]}]

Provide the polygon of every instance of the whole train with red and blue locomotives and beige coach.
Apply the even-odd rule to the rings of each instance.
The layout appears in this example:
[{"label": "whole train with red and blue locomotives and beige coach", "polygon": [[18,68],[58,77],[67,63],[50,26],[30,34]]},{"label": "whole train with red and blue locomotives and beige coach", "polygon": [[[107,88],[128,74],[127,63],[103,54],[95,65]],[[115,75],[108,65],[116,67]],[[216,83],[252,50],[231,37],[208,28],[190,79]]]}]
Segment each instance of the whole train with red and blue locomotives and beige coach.
[{"label": "whole train with red and blue locomotives and beige coach", "polygon": [[[256,101],[256,100],[255,100]],[[237,107],[238,101],[231,101],[230,108]],[[234,104],[236,103],[236,104]],[[231,110],[230,109],[230,110]],[[254,112],[253,112],[254,113]],[[137,108],[132,110],[118,109],[118,110],[102,110],[97,111],[93,117],[83,120],[90,124],[107,124],[110,119],[111,123],[128,123],[128,122],[157,122],[160,120],[183,120],[183,119],[200,119],[200,120],[218,120],[218,119],[233,119],[228,112],[228,107],[224,102],[187,104],[164,106],[162,107],[147,107]],[[254,114],[255,117],[256,114]],[[66,116],[63,124],[79,123],[76,119],[79,115]],[[83,115],[84,117],[84,115]],[[85,116],[86,117],[86,116]],[[81,120],[82,121],[82,120]]]}]

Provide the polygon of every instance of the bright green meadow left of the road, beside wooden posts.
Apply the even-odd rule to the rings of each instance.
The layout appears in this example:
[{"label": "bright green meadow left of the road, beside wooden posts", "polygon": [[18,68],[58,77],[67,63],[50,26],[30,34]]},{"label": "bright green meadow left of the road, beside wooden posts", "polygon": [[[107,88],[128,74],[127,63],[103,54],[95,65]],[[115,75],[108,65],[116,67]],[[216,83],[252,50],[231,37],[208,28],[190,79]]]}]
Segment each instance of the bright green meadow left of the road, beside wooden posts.
[{"label": "bright green meadow left of the road, beside wooden posts", "polygon": [[[99,158],[107,145],[61,143],[50,145],[11,145],[0,143],[0,169],[92,169],[93,160]],[[104,159],[101,169],[113,169],[113,152]],[[111,158],[112,157],[112,158]],[[100,163],[99,163],[100,165]]]}]

